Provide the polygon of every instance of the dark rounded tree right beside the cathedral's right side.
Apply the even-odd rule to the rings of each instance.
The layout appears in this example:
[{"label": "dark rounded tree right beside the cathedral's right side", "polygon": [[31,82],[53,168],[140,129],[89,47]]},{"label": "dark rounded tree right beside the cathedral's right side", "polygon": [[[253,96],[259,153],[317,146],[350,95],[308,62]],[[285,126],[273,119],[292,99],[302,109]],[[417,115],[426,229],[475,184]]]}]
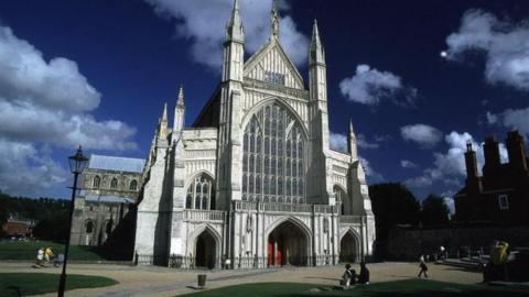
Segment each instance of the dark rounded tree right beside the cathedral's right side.
[{"label": "dark rounded tree right beside the cathedral's right side", "polygon": [[421,218],[421,205],[415,196],[399,183],[373,185],[369,187],[369,197],[377,228],[376,251],[384,257],[391,228],[399,223],[417,226]]}]

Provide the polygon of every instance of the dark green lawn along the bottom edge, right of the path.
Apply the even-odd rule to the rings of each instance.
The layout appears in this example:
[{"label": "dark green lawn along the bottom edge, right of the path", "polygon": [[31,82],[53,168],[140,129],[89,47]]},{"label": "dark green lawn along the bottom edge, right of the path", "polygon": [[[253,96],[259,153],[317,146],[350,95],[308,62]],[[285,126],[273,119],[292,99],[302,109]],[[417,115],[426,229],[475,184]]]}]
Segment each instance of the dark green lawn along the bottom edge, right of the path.
[{"label": "dark green lawn along the bottom edge, right of the path", "polygon": [[245,284],[212,290],[197,292],[185,296],[196,297],[260,297],[260,296],[397,296],[397,297],[521,297],[529,296],[528,286],[487,286],[487,285],[458,285],[424,279],[407,279],[357,286],[348,290],[337,287],[290,284],[290,283],[262,283]]}]

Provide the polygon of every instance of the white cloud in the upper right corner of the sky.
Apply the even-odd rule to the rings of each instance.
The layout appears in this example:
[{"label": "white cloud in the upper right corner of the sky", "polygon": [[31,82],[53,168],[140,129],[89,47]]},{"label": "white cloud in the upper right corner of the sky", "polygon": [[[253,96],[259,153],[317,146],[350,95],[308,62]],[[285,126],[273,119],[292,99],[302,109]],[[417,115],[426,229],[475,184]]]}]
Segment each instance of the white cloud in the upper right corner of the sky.
[{"label": "white cloud in the upper right corner of the sky", "polygon": [[450,61],[463,61],[468,52],[486,56],[485,78],[529,90],[529,23],[500,21],[481,9],[464,13],[460,30],[446,37]]}]

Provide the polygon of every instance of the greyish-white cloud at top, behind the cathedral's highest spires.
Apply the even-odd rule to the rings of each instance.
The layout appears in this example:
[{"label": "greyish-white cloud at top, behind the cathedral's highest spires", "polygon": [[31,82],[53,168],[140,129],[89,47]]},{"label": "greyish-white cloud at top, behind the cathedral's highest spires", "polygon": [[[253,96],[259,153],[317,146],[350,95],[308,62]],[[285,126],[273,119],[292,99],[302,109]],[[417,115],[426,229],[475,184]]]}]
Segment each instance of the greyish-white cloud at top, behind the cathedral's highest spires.
[{"label": "greyish-white cloud at top, behind the cathedral's highest spires", "polygon": [[[192,42],[193,59],[215,70],[220,70],[226,23],[233,9],[233,0],[173,1],[145,0],[156,13],[176,20],[176,35]],[[245,26],[245,48],[255,53],[270,36],[272,1],[240,1],[240,15]],[[279,9],[288,11],[285,2]],[[280,20],[280,41],[289,57],[296,65],[307,62],[309,38],[298,31],[290,15]]]}]

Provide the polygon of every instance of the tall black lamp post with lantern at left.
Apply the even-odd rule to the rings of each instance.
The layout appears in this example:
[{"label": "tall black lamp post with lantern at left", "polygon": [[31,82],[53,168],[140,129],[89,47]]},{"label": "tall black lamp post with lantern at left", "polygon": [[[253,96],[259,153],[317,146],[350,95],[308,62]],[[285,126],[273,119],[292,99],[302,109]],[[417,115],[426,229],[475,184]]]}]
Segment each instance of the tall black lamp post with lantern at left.
[{"label": "tall black lamp post with lantern at left", "polygon": [[64,250],[64,262],[63,262],[63,272],[61,273],[61,279],[58,280],[58,292],[57,296],[64,296],[64,288],[66,285],[66,262],[68,261],[68,250],[69,250],[69,239],[72,234],[72,220],[74,217],[74,205],[75,205],[75,193],[77,191],[77,177],[83,172],[86,166],[88,158],[83,155],[83,150],[77,148],[75,155],[68,157],[69,169],[74,174],[74,185],[72,186],[72,200],[69,202],[69,224],[68,224],[68,237],[66,240],[66,249]]}]

